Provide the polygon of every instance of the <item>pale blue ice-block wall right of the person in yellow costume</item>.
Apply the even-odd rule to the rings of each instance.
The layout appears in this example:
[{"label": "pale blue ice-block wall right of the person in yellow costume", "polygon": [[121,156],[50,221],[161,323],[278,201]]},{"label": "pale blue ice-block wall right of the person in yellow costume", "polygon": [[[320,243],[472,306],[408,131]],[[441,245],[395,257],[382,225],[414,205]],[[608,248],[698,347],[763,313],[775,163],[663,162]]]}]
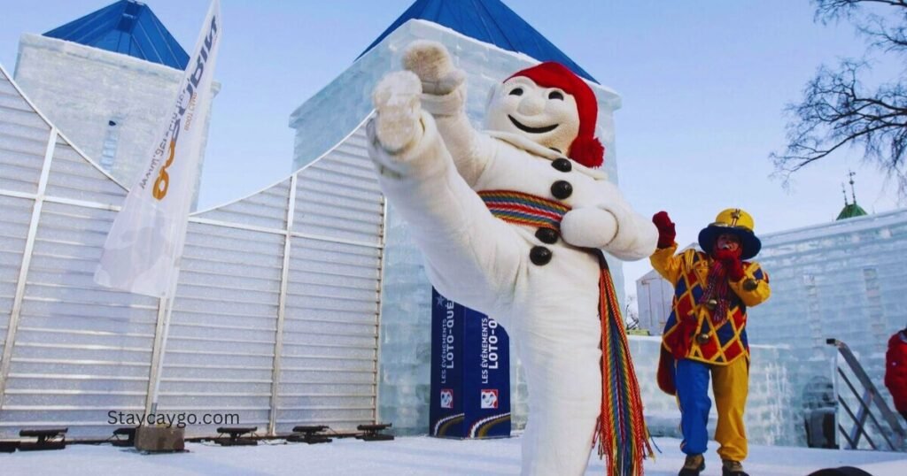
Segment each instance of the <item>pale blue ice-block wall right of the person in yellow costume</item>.
[{"label": "pale blue ice-block wall right of the person in yellow costume", "polygon": [[[888,338],[907,324],[907,210],[835,221],[762,237],[757,258],[772,297],[749,311],[751,343],[786,345],[798,438],[805,443],[805,409],[834,379],[834,348],[844,341],[886,402]],[[849,428],[849,426],[848,426]]]}]

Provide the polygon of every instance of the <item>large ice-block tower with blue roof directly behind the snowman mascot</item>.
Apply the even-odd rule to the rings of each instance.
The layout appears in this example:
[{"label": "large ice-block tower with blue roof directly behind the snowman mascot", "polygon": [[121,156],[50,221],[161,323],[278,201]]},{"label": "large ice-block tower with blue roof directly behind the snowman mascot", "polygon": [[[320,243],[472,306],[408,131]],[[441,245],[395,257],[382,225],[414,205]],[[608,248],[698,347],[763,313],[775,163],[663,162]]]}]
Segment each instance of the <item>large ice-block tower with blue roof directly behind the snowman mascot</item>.
[{"label": "large ice-block tower with blue roof directly behind the snowman mascot", "polygon": [[[372,112],[375,83],[385,73],[400,68],[404,48],[418,39],[446,45],[454,63],[467,73],[467,113],[480,128],[485,98],[494,83],[541,61],[557,61],[570,67],[587,80],[596,94],[596,135],[607,151],[604,167],[611,180],[617,180],[614,112],[620,107],[619,95],[596,82],[499,0],[418,0],[411,5],[346,72],[292,113],[289,125],[296,130],[294,170],[345,141],[365,121]],[[388,211],[385,232],[379,413],[403,432],[425,432],[432,291],[424,276],[422,257],[407,238],[393,206]],[[619,262],[612,263],[622,298],[623,274]],[[526,387],[515,370],[511,383],[512,421],[514,428],[520,428],[525,423]]]}]

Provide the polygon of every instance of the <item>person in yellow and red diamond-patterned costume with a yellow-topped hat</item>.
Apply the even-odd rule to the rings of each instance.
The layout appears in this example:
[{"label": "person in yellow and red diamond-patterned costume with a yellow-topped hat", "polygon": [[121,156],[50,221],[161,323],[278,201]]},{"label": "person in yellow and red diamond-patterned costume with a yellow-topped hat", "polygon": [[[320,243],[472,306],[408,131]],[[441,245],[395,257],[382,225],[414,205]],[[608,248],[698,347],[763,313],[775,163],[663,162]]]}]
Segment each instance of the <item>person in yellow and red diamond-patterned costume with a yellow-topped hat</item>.
[{"label": "person in yellow and red diamond-patterned costume with a yellow-topped hat", "polygon": [[658,274],[674,286],[674,300],[662,336],[658,386],[677,395],[681,450],[687,460],[678,476],[697,476],[706,467],[708,380],[712,378],[723,476],[747,476],[743,414],[749,389],[746,308],[768,299],[768,275],[754,261],[762,242],[753,218],[726,209],[699,232],[699,247],[677,252],[674,223],[658,212],[658,249],[649,257]]}]

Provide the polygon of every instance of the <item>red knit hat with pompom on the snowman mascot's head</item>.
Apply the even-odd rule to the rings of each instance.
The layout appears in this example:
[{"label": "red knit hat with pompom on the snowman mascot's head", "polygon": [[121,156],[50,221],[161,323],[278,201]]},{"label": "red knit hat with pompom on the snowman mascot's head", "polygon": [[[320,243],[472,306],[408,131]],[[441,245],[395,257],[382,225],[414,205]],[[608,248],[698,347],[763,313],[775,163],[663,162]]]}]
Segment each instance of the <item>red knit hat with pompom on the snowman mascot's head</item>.
[{"label": "red knit hat with pompom on the snowman mascot's head", "polygon": [[[586,167],[600,167],[605,158],[605,148],[595,138],[595,121],[599,117],[599,104],[595,92],[579,76],[561,63],[545,62],[513,73],[510,78],[525,76],[543,88],[561,88],[576,100],[580,114],[580,133],[570,146],[567,155]],[[504,81],[507,81],[504,80]]]}]

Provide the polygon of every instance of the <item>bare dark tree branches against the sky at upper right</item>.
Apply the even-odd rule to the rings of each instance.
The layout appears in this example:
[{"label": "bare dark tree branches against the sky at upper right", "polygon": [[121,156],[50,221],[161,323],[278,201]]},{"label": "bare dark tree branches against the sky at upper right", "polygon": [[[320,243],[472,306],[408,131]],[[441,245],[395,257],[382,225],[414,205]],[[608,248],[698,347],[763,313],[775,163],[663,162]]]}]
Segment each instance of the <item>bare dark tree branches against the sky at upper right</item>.
[{"label": "bare dark tree branches against the sky at upper right", "polygon": [[[907,53],[907,0],[814,0],[814,5],[817,21],[845,18],[856,24],[871,50]],[[897,8],[899,24],[864,13],[863,5]],[[870,90],[860,82],[869,69],[865,60],[822,66],[806,84],[803,100],[787,106],[785,151],[770,155],[785,185],[797,170],[846,146],[862,148],[863,159],[895,177],[907,197],[907,85],[898,81]]]}]

